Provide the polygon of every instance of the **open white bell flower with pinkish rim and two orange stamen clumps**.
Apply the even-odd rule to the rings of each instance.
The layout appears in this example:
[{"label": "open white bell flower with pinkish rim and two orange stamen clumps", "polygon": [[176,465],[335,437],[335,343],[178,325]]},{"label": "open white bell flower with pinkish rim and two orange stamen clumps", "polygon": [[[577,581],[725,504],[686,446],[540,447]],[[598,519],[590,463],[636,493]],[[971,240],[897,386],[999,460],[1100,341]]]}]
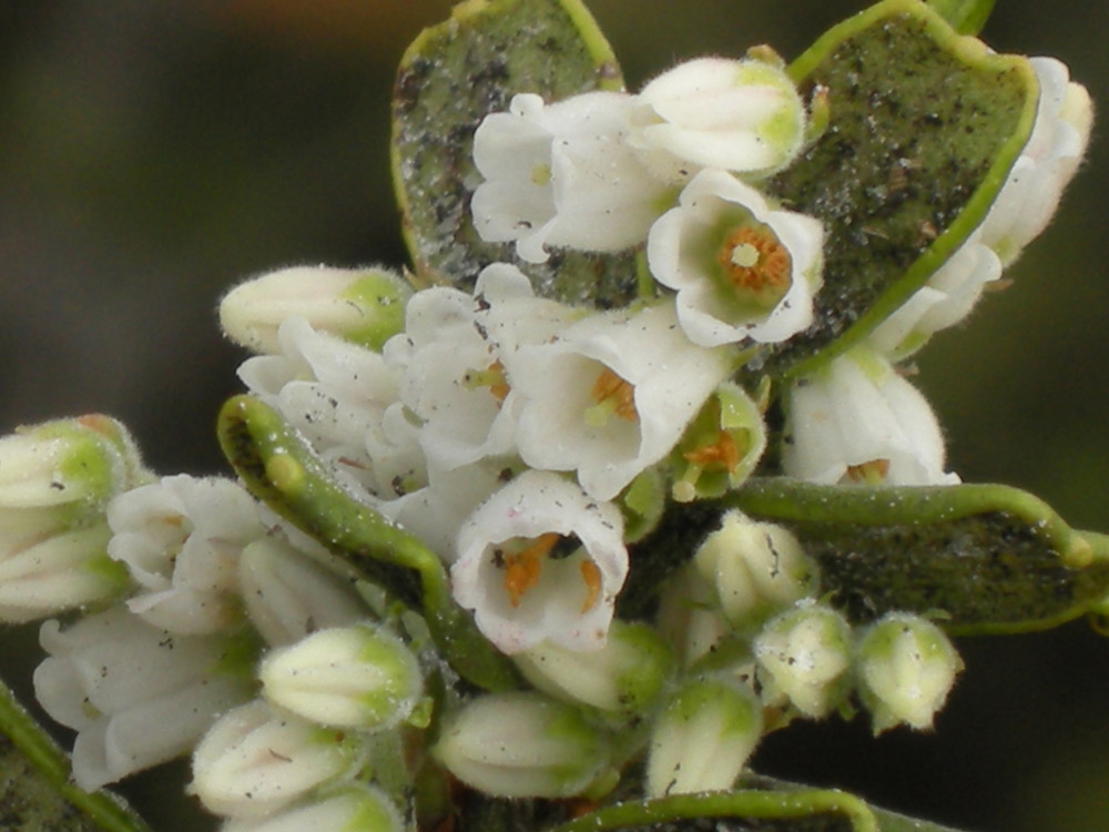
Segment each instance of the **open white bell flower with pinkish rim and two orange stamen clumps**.
[{"label": "open white bell flower with pinkish rim and two orange stamen clumps", "polygon": [[604,645],[628,574],[623,519],[569,480],[525,471],[486,500],[458,534],[455,599],[500,650],[550,639]]}]

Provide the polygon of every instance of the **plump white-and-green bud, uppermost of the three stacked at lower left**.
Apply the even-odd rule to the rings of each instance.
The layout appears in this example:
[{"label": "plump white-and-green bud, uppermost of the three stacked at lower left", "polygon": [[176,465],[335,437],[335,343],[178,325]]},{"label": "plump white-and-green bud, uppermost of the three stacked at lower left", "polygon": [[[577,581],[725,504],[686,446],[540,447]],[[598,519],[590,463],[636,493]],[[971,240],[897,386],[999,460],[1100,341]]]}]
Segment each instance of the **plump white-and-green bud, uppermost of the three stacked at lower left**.
[{"label": "plump white-and-green bud, uppermost of the three stacked at lower left", "polygon": [[416,657],[381,627],[321,630],[272,651],[258,677],[272,703],[323,726],[366,731],[396,726],[423,691]]}]

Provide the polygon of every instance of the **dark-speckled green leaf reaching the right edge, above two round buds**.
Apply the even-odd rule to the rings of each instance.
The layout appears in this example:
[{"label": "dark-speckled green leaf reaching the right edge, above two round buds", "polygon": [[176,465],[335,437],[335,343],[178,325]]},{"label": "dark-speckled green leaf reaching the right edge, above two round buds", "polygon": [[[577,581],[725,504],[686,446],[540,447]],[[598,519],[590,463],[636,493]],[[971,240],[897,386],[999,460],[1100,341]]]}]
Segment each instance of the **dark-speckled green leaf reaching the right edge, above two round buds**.
[{"label": "dark-speckled green leaf reaching the right edge, above two round buds", "polygon": [[855,622],[905,610],[965,635],[1042,630],[1109,596],[1109,537],[1071,529],[1003,485],[822,486],[749,480],[721,506],[780,522]]}]

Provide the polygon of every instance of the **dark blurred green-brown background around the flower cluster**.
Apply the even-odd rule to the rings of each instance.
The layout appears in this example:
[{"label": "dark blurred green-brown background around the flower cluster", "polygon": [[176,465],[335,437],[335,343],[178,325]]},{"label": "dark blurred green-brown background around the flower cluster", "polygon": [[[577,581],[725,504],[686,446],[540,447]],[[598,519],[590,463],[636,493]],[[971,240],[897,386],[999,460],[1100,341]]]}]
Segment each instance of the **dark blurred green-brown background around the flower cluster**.
[{"label": "dark blurred green-brown background around the flower cluster", "polygon": [[[244,356],[222,341],[216,301],[275,266],[405,262],[389,90],[404,48],[449,6],[0,2],[0,432],[99,410],[130,425],[160,471],[225,470],[212,423]],[[862,6],[591,3],[632,88],[695,54],[767,42],[796,55]],[[983,37],[1064,59],[1109,101],[1109,4],[998,0]],[[966,480],[1030,489],[1101,530],[1107,211],[1109,142],[1096,125],[1087,165],[1008,273],[1013,286],[938,336],[916,379]],[[20,646],[33,637],[6,640],[9,672],[23,679],[35,659]],[[968,830],[1109,829],[1109,641],[1076,622],[960,647],[968,667],[936,733],[797,726],[756,764]],[[161,804],[164,779],[136,779],[154,825],[212,828]]]}]

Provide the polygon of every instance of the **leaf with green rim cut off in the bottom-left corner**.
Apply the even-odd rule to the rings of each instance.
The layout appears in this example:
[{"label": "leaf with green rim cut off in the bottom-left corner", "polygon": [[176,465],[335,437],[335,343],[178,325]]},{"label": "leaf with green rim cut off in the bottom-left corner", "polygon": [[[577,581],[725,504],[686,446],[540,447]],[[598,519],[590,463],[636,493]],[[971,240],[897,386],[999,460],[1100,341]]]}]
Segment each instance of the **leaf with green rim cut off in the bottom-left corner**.
[{"label": "leaf with green rim cut off in the bottom-left corner", "polygon": [[65,752],[2,682],[0,823],[8,832],[151,832],[122,798],[73,784]]}]

